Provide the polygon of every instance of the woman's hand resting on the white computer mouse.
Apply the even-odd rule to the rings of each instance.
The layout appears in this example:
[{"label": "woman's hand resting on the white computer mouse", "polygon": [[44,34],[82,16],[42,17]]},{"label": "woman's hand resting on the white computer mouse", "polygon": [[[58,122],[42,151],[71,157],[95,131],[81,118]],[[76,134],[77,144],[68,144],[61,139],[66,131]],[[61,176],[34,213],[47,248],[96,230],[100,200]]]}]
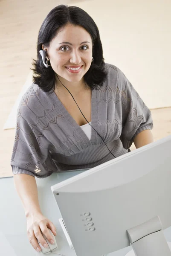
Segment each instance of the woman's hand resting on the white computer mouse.
[{"label": "woman's hand resting on the white computer mouse", "polygon": [[[52,231],[54,236],[56,236],[56,227],[54,224],[49,221],[45,216],[40,212],[29,214],[27,217],[27,236],[29,238],[30,244],[36,251],[41,251],[41,247],[38,244],[38,241],[42,244],[43,247],[47,247],[48,244],[43,238],[42,233],[46,236],[49,243],[53,244],[54,240],[51,234],[49,233],[48,228]],[[51,241],[52,240],[52,241]]]}]

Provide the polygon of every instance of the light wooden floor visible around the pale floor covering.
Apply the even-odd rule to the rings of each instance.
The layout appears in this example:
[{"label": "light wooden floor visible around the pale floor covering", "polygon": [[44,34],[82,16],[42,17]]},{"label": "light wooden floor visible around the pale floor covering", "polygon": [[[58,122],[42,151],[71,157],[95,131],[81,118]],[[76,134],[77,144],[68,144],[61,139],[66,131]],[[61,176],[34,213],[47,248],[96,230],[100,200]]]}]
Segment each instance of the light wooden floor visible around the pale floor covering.
[{"label": "light wooden floor visible around the pale floor covering", "polygon": [[[36,56],[38,30],[48,12],[63,1],[0,0],[0,177],[12,176],[14,129],[3,125]],[[74,5],[76,1],[65,1]],[[171,108],[152,110],[154,140],[171,134]],[[131,147],[133,150],[134,147]]]}]

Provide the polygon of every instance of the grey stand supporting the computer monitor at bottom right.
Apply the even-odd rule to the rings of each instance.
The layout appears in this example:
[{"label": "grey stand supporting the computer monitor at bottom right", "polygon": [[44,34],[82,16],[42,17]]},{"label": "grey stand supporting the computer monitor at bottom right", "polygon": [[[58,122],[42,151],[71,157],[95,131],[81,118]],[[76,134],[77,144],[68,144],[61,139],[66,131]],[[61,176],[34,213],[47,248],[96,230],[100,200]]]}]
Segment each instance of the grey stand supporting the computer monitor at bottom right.
[{"label": "grey stand supporting the computer monitor at bottom right", "polygon": [[171,256],[171,242],[162,232],[159,216],[127,230],[133,247],[126,256]]}]

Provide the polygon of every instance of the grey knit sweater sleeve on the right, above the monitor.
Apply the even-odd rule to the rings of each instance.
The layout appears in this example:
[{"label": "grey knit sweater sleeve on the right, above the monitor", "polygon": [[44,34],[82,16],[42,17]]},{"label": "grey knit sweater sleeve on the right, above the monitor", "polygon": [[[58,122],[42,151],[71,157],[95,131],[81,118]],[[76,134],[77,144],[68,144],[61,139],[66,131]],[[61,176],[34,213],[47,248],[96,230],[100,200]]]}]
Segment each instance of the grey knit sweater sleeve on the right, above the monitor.
[{"label": "grey knit sweater sleeve on the right, above the monitor", "polygon": [[151,111],[119,69],[118,89],[120,90],[122,105],[122,134],[120,139],[123,147],[128,149],[136,135],[141,131],[153,128],[153,120]]}]

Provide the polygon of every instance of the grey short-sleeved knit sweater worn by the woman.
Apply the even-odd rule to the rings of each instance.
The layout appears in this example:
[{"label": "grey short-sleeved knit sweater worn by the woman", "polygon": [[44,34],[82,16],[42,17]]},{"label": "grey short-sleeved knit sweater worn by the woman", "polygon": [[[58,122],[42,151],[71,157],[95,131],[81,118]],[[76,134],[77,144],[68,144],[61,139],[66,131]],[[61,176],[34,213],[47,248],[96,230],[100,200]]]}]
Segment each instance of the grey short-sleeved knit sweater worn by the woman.
[{"label": "grey short-sleeved knit sweater worn by the woman", "polygon": [[[152,129],[151,111],[125,75],[106,64],[107,80],[92,91],[91,125],[115,157],[128,152],[139,132]],[[91,139],[55,92],[32,84],[20,102],[12,152],[13,174],[39,178],[53,172],[89,169],[113,159],[96,131]]]}]

